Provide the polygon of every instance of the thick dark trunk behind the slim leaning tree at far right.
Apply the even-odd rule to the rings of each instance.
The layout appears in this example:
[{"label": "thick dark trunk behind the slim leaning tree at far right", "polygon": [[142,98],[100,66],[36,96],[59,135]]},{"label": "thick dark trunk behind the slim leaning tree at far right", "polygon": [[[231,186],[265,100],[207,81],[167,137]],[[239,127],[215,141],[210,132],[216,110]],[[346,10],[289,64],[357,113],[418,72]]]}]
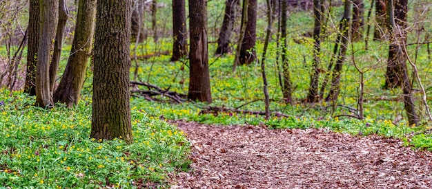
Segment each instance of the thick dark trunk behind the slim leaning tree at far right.
[{"label": "thick dark trunk behind the slim leaning tree at far right", "polygon": [[[400,27],[400,28],[406,28],[406,12],[408,11],[408,5],[406,0],[393,0],[394,2],[394,7],[393,8],[389,8],[387,6],[387,14],[389,15],[390,13],[392,15],[389,15],[389,19],[390,16],[393,16],[395,19],[395,27]],[[390,4],[391,2],[389,2]],[[389,5],[388,4],[388,5]],[[391,26],[391,22],[389,23],[389,30],[393,30],[392,26]],[[401,32],[405,32],[404,30],[400,30]],[[394,32],[394,31],[391,31]],[[394,34],[393,34],[394,35]],[[398,35],[398,34],[396,34]],[[391,36],[391,37],[395,37],[395,36]],[[405,35],[400,36],[401,38],[404,38]],[[406,40],[406,39],[405,39]],[[384,89],[393,89],[394,87],[401,87],[402,86],[402,82],[403,82],[403,70],[402,67],[400,66],[400,58],[403,57],[403,55],[401,54],[401,52],[399,52],[399,48],[398,45],[400,44],[395,44],[395,43],[390,43],[389,47],[389,60],[387,61],[387,70],[386,70],[386,81],[384,84]],[[403,61],[405,63],[405,61]]]}]

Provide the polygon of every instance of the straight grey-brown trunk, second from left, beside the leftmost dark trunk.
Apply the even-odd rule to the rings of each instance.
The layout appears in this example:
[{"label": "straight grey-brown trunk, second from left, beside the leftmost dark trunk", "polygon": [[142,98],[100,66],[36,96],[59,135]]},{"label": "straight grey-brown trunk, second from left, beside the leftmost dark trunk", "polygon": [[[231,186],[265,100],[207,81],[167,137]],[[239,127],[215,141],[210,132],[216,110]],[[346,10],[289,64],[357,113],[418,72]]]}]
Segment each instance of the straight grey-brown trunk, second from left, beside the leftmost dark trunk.
[{"label": "straight grey-brown trunk, second from left, beside the leftmost dark trunk", "polygon": [[50,91],[50,54],[57,30],[59,1],[40,1],[39,49],[36,67],[36,106],[52,107]]}]

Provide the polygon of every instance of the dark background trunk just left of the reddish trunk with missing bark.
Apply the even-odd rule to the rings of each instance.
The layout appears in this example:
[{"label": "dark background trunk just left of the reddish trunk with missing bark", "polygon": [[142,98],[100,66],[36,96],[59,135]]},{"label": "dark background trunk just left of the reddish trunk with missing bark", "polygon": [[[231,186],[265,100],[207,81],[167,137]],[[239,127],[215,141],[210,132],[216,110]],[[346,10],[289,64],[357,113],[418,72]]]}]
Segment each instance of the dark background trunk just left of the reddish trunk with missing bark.
[{"label": "dark background trunk just left of the reddish trunk with missing bark", "polygon": [[177,61],[188,56],[188,42],[186,34],[186,10],[184,0],[173,0],[173,57]]}]

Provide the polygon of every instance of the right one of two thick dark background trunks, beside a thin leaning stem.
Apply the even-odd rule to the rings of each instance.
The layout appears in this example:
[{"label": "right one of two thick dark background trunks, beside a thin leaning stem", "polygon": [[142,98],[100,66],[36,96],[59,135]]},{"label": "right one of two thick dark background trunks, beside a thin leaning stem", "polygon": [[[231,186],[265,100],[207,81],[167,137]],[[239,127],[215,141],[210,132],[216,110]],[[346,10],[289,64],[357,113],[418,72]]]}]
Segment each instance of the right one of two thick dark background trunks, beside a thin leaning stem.
[{"label": "right one of two thick dark background trunks, beside a thin leaning stem", "polygon": [[257,26],[257,0],[249,0],[248,5],[248,23],[246,23],[246,32],[243,38],[242,49],[239,54],[239,64],[248,65],[257,58],[255,50],[255,41]]}]

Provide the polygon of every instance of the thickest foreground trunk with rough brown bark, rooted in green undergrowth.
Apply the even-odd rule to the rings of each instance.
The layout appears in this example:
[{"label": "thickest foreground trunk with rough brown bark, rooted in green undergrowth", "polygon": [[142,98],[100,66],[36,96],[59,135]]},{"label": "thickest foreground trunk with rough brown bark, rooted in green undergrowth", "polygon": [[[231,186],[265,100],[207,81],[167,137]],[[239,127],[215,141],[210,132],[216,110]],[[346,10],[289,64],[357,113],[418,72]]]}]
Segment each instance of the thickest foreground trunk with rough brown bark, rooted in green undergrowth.
[{"label": "thickest foreground trunk with rough brown bark, rooted in green undergrowth", "polygon": [[95,29],[90,137],[132,140],[130,123],[130,20],[132,1],[99,1]]}]

